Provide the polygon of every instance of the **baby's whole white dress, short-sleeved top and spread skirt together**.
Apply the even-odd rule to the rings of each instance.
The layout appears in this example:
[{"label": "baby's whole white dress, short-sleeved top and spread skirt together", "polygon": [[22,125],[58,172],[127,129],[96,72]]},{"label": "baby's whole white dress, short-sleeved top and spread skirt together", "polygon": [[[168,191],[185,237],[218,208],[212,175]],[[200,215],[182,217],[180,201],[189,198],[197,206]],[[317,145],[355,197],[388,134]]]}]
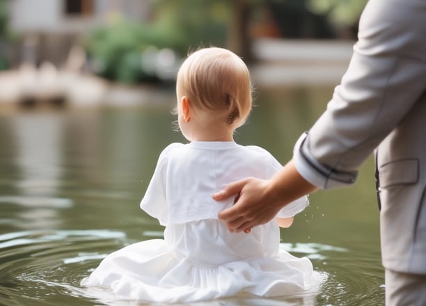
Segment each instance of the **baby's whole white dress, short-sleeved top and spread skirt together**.
[{"label": "baby's whole white dress, short-sleeved top and spread skirt together", "polygon": [[[118,299],[191,303],[239,294],[297,295],[313,289],[313,266],[280,250],[276,220],[250,234],[217,219],[233,204],[212,193],[244,177],[268,179],[280,163],[260,147],[234,142],[174,143],[161,153],[141,208],[166,226],[164,239],[141,241],[108,255],[82,284],[107,287]],[[278,216],[308,204],[301,198]]]}]

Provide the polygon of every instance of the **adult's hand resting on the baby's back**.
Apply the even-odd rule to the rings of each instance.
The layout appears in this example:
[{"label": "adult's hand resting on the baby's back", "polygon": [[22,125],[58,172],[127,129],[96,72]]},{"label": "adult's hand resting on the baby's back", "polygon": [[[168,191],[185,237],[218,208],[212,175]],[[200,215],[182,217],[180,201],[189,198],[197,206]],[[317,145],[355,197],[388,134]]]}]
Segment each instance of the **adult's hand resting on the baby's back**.
[{"label": "adult's hand resting on the baby's back", "polygon": [[232,232],[250,232],[251,227],[273,219],[281,209],[269,193],[269,181],[253,177],[233,182],[222,191],[214,193],[214,200],[236,197],[235,204],[223,209],[219,219],[223,220]]}]

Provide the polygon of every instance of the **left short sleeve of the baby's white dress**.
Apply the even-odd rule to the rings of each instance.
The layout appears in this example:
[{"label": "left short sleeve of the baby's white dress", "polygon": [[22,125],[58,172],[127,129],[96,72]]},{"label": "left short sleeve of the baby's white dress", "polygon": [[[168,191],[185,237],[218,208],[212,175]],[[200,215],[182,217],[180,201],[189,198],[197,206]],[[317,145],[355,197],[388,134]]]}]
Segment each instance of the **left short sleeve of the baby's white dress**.
[{"label": "left short sleeve of the baby's white dress", "polygon": [[167,215],[167,197],[166,197],[166,173],[168,154],[171,153],[173,147],[182,145],[180,143],[172,143],[161,152],[157,161],[157,166],[152,175],[150,184],[146,189],[145,195],[141,200],[141,209],[150,216],[157,218],[160,224],[164,224]]}]

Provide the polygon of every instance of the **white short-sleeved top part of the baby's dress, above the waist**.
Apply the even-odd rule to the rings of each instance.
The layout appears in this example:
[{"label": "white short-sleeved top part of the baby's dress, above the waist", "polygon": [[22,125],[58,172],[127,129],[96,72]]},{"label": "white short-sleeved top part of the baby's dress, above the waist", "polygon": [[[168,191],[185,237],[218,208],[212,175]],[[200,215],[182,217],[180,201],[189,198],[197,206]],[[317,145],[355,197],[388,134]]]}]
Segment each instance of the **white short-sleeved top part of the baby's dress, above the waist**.
[{"label": "white short-sleeved top part of the baby's dress, above the waist", "polygon": [[[216,219],[234,198],[217,202],[212,193],[246,177],[269,179],[282,166],[257,146],[234,142],[173,143],[161,152],[141,208],[161,225]],[[308,198],[296,200],[278,213],[291,217],[305,209]],[[171,218],[173,216],[173,218]]]}]

